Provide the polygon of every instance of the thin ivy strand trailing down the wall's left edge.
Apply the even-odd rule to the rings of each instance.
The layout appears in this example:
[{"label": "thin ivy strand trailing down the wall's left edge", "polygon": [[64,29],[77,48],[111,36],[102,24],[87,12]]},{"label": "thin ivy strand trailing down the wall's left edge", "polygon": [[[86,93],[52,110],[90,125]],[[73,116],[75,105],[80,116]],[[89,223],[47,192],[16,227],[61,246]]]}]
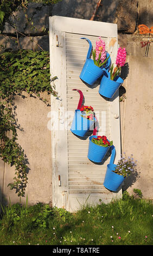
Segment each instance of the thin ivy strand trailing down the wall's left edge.
[{"label": "thin ivy strand trailing down the wall's left edge", "polygon": [[[1,72],[0,72],[1,73]],[[14,183],[9,184],[15,188],[18,196],[24,196],[27,184],[27,166],[21,146],[16,142],[17,133],[12,114],[11,99],[0,102],[0,157],[5,163],[15,166]],[[8,136],[12,132],[11,138]]]}]

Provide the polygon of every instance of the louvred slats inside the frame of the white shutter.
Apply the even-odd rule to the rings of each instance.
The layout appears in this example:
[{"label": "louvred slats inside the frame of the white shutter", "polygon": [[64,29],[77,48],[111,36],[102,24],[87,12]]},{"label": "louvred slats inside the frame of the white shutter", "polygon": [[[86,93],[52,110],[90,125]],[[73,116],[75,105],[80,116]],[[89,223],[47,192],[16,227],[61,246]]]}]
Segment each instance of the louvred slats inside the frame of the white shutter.
[{"label": "louvred slats inside the frame of the white shutter", "polygon": [[[90,88],[80,78],[82,66],[86,60],[88,42],[80,40],[84,35],[66,33],[66,77],[67,77],[67,111],[74,112],[78,106],[79,93],[72,89],[80,89],[84,94],[84,105],[92,106],[94,111],[100,113],[99,122],[104,118],[102,127],[106,126],[105,133],[110,139],[110,102],[106,101],[98,93],[99,83]],[[87,36],[93,47],[96,36]],[[104,39],[107,47],[107,40]],[[105,113],[105,114],[104,114]],[[73,118],[72,118],[73,119]],[[101,125],[100,125],[101,127]],[[69,193],[103,193],[103,181],[106,172],[106,165],[110,162],[110,153],[105,156],[105,161],[95,164],[88,160],[88,137],[80,139],[68,130],[68,182]]]}]

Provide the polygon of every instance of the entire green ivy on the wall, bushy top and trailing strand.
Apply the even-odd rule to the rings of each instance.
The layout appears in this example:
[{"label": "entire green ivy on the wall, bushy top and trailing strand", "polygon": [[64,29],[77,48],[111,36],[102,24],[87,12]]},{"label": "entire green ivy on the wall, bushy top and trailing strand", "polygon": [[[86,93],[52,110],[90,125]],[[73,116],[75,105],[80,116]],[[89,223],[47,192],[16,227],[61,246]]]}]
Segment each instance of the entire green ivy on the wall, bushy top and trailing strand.
[{"label": "entire green ivy on the wall, bushy top and trailing strand", "polygon": [[42,92],[57,96],[55,87],[50,86],[49,52],[19,50],[0,54],[0,157],[15,166],[14,182],[8,186],[15,189],[18,196],[24,196],[28,182],[28,166],[24,151],[17,143],[14,114],[14,96],[23,91],[38,97]]}]

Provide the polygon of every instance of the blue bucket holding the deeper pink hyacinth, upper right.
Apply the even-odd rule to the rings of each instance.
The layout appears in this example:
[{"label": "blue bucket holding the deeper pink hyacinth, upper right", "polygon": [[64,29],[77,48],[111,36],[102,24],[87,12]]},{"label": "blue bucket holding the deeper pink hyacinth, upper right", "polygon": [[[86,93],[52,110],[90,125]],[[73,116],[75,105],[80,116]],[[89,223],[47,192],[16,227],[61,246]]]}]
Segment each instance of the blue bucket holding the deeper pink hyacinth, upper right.
[{"label": "blue bucket holding the deeper pink hyacinth, upper right", "polygon": [[104,76],[101,78],[99,94],[112,98],[123,82],[123,79],[119,76],[114,78],[114,80],[111,80],[110,73],[106,71]]}]

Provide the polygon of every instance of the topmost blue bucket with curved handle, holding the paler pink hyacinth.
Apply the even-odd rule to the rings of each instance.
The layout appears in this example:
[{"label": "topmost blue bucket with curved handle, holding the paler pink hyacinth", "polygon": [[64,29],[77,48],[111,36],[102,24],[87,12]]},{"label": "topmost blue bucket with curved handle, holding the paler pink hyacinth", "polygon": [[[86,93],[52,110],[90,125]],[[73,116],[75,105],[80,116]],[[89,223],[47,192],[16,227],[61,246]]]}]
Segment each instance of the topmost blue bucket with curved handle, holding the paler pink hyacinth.
[{"label": "topmost blue bucket with curved handle, holding the paler pink hyacinth", "polygon": [[[86,62],[82,68],[80,78],[82,81],[90,84],[92,84],[98,80],[98,78],[104,74],[104,69],[102,67],[99,68],[99,66],[96,66],[91,59],[91,50],[92,50],[92,43],[89,39],[87,38],[81,38],[81,39],[86,39],[89,43],[89,48],[87,52],[87,57],[86,57]],[[110,56],[109,53],[106,53],[106,58]],[[107,60],[105,70],[109,69],[109,66],[111,64],[111,57]]]}]

